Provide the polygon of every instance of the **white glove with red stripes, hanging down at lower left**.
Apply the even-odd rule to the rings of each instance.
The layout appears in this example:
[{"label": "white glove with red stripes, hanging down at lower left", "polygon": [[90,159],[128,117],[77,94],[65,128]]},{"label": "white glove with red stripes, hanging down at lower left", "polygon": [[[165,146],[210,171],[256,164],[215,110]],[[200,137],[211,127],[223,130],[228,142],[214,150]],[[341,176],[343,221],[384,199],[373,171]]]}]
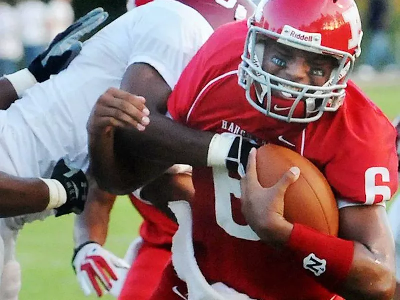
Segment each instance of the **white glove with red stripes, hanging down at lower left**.
[{"label": "white glove with red stripes, hanging down at lower left", "polygon": [[75,250],[72,267],[83,293],[88,296],[96,292],[97,296],[101,297],[112,289],[121,274],[125,273],[126,276],[130,265],[99,244],[88,242]]}]

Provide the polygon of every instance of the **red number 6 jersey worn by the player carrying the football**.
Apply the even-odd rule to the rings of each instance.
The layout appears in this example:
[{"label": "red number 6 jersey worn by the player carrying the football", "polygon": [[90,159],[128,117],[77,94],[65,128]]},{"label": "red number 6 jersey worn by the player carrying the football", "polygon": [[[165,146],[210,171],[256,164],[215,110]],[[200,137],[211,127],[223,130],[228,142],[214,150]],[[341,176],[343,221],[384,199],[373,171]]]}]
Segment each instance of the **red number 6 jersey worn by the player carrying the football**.
[{"label": "red number 6 jersey worn by the player carrying the football", "polygon": [[[396,132],[379,108],[349,82],[343,106],[316,122],[286,123],[261,114],[237,84],[246,34],[246,22],[215,31],[168,100],[173,119],[293,149],[322,171],[343,203],[388,200],[397,189]],[[239,180],[227,170],[194,168],[193,184],[194,252],[208,282],[223,282],[254,299],[332,298],[302,265],[292,263],[288,252],[259,241],[241,214]],[[153,298],[165,298],[171,288],[159,289],[164,294]]]}]

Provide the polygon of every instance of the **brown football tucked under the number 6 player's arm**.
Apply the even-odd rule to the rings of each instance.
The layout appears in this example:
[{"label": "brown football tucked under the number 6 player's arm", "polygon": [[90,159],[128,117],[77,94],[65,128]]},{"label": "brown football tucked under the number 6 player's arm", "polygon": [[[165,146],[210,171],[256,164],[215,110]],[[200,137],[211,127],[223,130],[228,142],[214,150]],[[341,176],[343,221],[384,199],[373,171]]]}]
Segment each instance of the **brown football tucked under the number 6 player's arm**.
[{"label": "brown football tucked under the number 6 player's arm", "polygon": [[285,147],[267,144],[257,151],[258,180],[263,187],[273,186],[292,166],[300,177],[284,197],[284,217],[317,231],[337,236],[339,212],[329,183],[308,159]]}]

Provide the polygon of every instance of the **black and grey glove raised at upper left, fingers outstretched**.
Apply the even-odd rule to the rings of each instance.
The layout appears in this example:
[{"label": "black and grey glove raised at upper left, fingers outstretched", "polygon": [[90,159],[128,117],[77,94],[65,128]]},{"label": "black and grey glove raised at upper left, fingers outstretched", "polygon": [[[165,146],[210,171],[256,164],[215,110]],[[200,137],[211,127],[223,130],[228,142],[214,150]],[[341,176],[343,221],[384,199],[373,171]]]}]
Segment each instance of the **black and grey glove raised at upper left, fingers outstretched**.
[{"label": "black and grey glove raised at upper left, fingers outstretched", "polygon": [[108,13],[104,9],[96,8],[59,33],[48,48],[28,66],[37,82],[44,82],[50,75],[65,69],[82,49],[79,39],[97,28],[107,17]]}]

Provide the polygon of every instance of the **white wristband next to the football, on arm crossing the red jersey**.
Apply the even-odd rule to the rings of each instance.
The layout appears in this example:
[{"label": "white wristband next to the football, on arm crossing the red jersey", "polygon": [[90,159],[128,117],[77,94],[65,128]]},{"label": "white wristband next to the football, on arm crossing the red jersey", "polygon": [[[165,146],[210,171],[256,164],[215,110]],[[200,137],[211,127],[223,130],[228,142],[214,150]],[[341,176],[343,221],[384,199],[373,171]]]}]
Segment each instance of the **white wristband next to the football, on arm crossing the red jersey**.
[{"label": "white wristband next to the football, on arm crossing the red jersey", "polygon": [[209,143],[207,166],[225,166],[230,147],[237,136],[232,133],[215,134]]}]

